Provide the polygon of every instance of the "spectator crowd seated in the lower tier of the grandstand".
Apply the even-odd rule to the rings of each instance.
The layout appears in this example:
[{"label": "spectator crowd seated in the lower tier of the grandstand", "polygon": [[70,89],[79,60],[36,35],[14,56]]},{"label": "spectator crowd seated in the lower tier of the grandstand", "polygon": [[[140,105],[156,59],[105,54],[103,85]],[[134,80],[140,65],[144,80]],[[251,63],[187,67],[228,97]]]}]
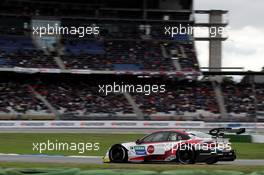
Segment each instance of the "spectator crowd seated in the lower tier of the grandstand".
[{"label": "spectator crowd seated in the lower tier of the grandstand", "polygon": [[[38,99],[32,87],[62,114],[132,114],[132,105],[123,94],[100,94],[91,83],[0,83],[0,113],[30,113],[49,109]],[[256,98],[250,85],[223,84],[225,106],[229,114],[252,115],[264,111],[264,86],[256,85]],[[146,115],[197,114],[201,111],[219,114],[215,92],[209,82],[177,83],[169,85],[165,93],[131,94],[137,106]],[[257,109],[256,109],[257,108]]]}]

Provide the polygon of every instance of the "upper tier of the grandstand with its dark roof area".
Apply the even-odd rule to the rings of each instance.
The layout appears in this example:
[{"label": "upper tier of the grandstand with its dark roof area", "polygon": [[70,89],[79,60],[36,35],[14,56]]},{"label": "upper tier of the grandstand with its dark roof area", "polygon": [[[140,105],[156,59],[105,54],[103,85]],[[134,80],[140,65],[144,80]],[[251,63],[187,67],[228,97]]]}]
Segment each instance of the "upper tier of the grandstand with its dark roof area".
[{"label": "upper tier of the grandstand with its dark roof area", "polygon": [[[144,4],[143,1],[131,4],[121,1],[3,1],[0,67],[114,72],[199,71],[192,37],[179,34],[171,38],[162,30],[165,25],[193,23],[190,1],[174,4],[174,8],[178,8],[176,11],[167,10],[166,3],[158,1],[144,1]],[[57,8],[51,10],[54,5]],[[159,5],[164,6],[164,10],[159,9]],[[169,20],[164,21],[164,16]],[[30,26],[40,27],[47,23],[69,28],[97,26],[100,34],[82,38],[72,34],[32,36]],[[177,60],[172,59],[171,52]]]}]

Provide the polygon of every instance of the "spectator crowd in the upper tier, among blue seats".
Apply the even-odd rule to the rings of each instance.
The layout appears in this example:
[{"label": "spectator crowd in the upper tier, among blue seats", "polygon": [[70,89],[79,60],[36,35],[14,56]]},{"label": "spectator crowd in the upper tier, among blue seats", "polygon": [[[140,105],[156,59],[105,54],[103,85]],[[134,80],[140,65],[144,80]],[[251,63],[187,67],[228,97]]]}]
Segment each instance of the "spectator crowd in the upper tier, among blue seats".
[{"label": "spectator crowd in the upper tier, among blue seats", "polygon": [[[0,44],[0,68],[59,68],[53,53],[37,49],[29,37],[2,36]],[[66,40],[60,59],[67,69],[173,72],[171,49],[182,71],[198,70],[193,44],[169,41]]]}]

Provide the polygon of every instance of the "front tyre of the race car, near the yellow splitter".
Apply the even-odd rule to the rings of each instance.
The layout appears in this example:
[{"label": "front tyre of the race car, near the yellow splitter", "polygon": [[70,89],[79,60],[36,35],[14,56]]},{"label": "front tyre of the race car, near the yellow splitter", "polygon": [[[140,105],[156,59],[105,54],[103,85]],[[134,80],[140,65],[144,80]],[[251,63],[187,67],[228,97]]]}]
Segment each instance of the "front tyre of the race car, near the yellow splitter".
[{"label": "front tyre of the race car, near the yellow splitter", "polygon": [[109,151],[110,162],[125,163],[128,161],[127,150],[122,145],[114,145]]}]

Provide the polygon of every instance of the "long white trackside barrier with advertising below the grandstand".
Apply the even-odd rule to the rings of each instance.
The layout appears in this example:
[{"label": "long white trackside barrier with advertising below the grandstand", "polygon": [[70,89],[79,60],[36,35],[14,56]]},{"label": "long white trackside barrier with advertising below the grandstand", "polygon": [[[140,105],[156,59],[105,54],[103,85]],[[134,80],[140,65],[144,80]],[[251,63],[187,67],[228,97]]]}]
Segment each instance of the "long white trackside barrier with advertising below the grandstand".
[{"label": "long white trackside barrier with advertising below the grandstand", "polygon": [[202,121],[0,121],[4,128],[87,128],[87,129],[209,129],[219,127],[263,129],[264,123],[206,123]]}]

